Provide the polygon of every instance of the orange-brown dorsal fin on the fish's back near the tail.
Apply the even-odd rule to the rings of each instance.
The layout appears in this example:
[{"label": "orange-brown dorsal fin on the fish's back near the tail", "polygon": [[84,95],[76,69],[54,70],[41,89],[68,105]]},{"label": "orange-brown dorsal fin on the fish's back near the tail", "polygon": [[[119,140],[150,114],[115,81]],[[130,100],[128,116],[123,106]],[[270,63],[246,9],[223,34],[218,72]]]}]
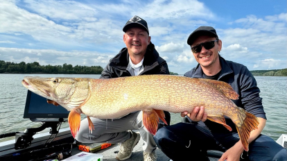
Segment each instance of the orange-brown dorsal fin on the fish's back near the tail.
[{"label": "orange-brown dorsal fin on the fish's back near the tail", "polygon": [[219,80],[211,80],[211,79],[205,79],[200,78],[202,82],[208,83],[209,85],[216,87],[218,90],[223,92],[225,96],[227,96],[228,99],[238,99],[238,94],[233,90],[232,86],[228,83],[225,83],[223,81]]}]

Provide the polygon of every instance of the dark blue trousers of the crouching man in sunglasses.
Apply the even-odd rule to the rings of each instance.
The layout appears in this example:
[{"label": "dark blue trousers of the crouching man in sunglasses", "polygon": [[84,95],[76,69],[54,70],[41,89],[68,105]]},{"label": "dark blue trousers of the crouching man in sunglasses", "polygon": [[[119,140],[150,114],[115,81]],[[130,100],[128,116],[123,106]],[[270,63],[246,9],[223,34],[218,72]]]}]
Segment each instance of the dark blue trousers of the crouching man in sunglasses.
[{"label": "dark blue trousers of the crouching man in sunglasses", "polygon": [[[238,142],[238,133],[214,133],[200,124],[178,123],[160,128],[155,142],[172,160],[204,160],[207,150],[227,151]],[[246,153],[246,152],[245,152]],[[250,145],[247,160],[287,160],[287,150],[266,135],[259,135]]]}]

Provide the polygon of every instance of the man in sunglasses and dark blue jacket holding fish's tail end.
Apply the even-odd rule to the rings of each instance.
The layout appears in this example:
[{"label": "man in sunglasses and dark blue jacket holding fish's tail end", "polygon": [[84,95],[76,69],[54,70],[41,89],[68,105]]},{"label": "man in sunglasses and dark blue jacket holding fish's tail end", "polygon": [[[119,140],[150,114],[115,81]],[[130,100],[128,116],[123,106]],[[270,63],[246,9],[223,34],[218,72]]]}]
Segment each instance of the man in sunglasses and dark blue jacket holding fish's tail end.
[{"label": "man in sunglasses and dark blue jacket holding fish's tail end", "polygon": [[244,65],[227,61],[219,55],[222,41],[216,30],[200,26],[187,40],[198,65],[186,72],[191,78],[221,80],[239,94],[234,103],[259,119],[258,129],[250,133],[249,151],[243,150],[236,127],[225,117],[230,132],[221,124],[210,121],[204,107],[195,107],[191,113],[182,112],[183,123],[167,126],[157,131],[155,142],[172,160],[209,160],[207,150],[223,151],[223,160],[287,160],[287,151],[261,131],[266,125],[266,114],[256,80]]}]

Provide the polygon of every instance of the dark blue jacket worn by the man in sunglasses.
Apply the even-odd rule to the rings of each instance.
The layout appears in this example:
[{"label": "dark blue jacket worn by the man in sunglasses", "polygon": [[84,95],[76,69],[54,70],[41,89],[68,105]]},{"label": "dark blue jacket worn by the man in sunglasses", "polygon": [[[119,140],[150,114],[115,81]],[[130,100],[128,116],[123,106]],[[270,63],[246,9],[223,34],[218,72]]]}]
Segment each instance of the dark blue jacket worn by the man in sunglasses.
[{"label": "dark blue jacket worn by the man in sunglasses", "polygon": [[[256,80],[251,72],[244,65],[236,62],[227,61],[219,56],[220,65],[222,67],[218,80],[228,83],[233,90],[239,94],[237,100],[232,100],[238,107],[245,109],[256,117],[266,119],[266,114],[263,110],[262,98],[259,96],[260,90],[257,87]],[[198,64],[191,71],[187,71],[184,76],[191,78],[204,78],[203,71]],[[227,124],[236,131],[231,119],[225,117]],[[212,121],[205,121],[205,124],[210,130],[223,130],[223,126]],[[219,127],[220,126],[220,127]],[[225,129],[227,130],[227,129]],[[227,130],[228,131],[228,130]]]}]

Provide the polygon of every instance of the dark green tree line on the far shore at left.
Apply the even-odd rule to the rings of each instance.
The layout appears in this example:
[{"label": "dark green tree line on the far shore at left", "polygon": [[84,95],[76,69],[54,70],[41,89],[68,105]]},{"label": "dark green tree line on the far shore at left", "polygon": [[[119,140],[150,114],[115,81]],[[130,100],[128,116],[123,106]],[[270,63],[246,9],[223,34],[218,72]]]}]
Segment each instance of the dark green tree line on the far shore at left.
[{"label": "dark green tree line on the far shore at left", "polygon": [[0,74],[101,74],[101,66],[40,65],[39,62],[5,62],[0,60]]}]

